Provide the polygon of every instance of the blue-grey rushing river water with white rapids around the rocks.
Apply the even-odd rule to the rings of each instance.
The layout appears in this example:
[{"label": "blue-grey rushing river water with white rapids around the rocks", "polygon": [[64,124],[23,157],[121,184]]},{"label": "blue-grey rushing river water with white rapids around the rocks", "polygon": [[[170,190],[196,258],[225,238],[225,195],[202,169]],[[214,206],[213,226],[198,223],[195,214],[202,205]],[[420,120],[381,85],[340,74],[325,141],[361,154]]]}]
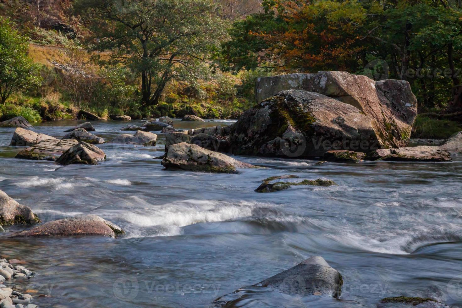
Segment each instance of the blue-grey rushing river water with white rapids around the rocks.
[{"label": "blue-grey rushing river water with white rapids around the rocks", "polygon": [[[33,130],[61,138],[79,123],[43,122]],[[93,122],[106,140],[125,124]],[[175,120],[177,129],[217,124],[232,122]],[[22,228],[6,227],[0,256],[38,272],[13,283],[39,306],[208,307],[245,287],[226,296],[230,307],[380,307],[381,298],[401,295],[462,307],[460,158],[315,165],[236,157],[267,169],[166,171],[153,159],[164,152],[159,133],[155,147],[98,145],[106,162],[62,167],[14,158],[21,148],[8,146],[13,131],[0,129],[1,190],[43,222],[96,214],[126,231],[118,239],[7,239]],[[285,174],[338,186],[254,192],[263,179]],[[342,274],[341,300],[251,287],[314,255]]]}]

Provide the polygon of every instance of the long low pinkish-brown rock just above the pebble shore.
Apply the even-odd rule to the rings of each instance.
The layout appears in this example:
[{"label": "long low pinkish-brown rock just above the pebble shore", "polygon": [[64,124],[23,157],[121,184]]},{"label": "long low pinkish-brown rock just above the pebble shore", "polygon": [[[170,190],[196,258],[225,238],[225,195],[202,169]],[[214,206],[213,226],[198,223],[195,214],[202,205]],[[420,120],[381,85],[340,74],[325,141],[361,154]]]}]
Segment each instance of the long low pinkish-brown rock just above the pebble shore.
[{"label": "long low pinkish-brown rock just above the pebble shore", "polygon": [[116,237],[125,232],[116,224],[96,215],[84,215],[44,223],[10,237],[34,236],[108,236]]}]

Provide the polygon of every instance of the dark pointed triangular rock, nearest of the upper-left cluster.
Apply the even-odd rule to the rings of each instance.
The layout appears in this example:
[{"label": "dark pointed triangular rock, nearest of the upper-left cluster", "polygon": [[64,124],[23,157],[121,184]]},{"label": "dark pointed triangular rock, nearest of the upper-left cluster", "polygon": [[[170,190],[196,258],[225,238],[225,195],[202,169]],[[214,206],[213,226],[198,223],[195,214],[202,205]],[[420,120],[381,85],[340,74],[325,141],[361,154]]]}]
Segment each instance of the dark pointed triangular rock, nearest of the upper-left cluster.
[{"label": "dark pointed triangular rock, nearest of the upper-left cluster", "polygon": [[106,160],[106,153],[96,145],[91,145],[86,142],[79,142],[69,150],[65,151],[57,160],[56,163],[61,165],[69,165],[72,163],[82,163],[86,165],[97,165],[98,162]]}]

